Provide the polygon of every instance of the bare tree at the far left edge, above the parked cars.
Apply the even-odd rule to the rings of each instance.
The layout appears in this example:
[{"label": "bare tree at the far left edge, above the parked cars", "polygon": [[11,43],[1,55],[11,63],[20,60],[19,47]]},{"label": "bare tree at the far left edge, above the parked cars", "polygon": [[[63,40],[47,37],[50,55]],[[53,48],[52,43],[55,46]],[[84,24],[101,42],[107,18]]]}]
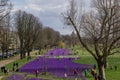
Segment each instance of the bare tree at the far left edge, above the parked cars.
[{"label": "bare tree at the far left edge, above the parked cars", "polygon": [[2,55],[9,50],[10,45],[10,11],[12,4],[8,0],[0,0],[0,48]]}]

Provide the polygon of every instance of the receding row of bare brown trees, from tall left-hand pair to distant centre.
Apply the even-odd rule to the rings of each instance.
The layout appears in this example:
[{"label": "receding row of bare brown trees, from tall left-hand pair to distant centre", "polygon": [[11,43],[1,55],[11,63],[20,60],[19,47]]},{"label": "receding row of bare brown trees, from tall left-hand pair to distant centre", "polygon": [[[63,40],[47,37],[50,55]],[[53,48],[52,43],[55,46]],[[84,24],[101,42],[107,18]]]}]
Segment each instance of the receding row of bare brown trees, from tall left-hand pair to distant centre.
[{"label": "receding row of bare brown trees, from tall left-hand pair to distant centre", "polygon": [[26,52],[27,56],[30,56],[33,48],[41,50],[42,48],[57,47],[60,41],[64,41],[68,45],[73,43],[75,45],[77,41],[76,34],[60,35],[52,28],[44,27],[37,17],[25,11],[17,11],[14,14],[14,22],[20,41],[21,59],[26,56]]}]

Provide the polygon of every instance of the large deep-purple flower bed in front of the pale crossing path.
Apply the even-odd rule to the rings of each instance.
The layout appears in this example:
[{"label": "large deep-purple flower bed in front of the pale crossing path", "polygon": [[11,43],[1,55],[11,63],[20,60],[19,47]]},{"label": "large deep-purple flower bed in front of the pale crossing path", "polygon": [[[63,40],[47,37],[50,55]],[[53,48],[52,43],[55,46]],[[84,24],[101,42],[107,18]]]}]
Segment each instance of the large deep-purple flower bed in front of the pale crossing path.
[{"label": "large deep-purple flower bed in front of the pale crossing path", "polygon": [[73,69],[75,68],[82,80],[85,80],[82,72],[85,69],[91,68],[91,66],[85,64],[77,64],[72,62],[72,60],[73,59],[70,60],[69,58],[62,58],[58,60],[56,58],[40,57],[22,66],[20,68],[20,71],[35,74],[35,70],[38,69],[41,73],[44,72],[44,68],[46,66],[46,71],[51,75],[64,77],[64,74],[67,73],[68,77],[74,77]]}]

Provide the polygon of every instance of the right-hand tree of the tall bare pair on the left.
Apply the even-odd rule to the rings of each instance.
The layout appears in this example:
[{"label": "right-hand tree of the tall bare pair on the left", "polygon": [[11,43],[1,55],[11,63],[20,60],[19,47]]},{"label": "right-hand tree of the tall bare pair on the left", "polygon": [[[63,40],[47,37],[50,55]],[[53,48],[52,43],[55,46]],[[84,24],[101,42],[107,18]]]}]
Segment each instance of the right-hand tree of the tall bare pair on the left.
[{"label": "right-hand tree of the tall bare pair on the left", "polygon": [[25,47],[30,56],[30,51],[33,49],[35,43],[37,43],[38,36],[41,31],[42,24],[38,20],[38,18],[34,17],[33,15],[29,15],[29,23],[26,26],[25,30]]}]

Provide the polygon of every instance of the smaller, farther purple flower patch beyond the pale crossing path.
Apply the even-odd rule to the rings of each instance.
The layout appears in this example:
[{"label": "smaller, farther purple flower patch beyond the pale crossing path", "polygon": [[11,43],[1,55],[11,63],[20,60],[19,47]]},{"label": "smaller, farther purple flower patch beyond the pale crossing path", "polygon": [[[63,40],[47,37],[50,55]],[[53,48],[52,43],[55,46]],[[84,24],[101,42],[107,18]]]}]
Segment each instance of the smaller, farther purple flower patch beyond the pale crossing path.
[{"label": "smaller, farther purple flower patch beyond the pale crossing path", "polygon": [[49,50],[47,53],[45,53],[45,55],[51,55],[51,56],[60,56],[60,55],[69,55],[71,52],[71,50],[69,49],[53,49],[53,50]]}]

